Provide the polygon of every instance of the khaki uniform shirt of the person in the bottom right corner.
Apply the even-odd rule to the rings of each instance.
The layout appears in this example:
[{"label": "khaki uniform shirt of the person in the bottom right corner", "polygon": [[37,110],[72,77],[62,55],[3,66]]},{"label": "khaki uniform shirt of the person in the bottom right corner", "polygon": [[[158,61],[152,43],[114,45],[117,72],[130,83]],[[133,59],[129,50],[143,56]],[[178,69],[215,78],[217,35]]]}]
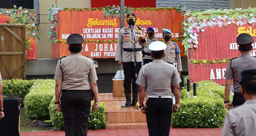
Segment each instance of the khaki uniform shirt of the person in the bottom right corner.
[{"label": "khaki uniform shirt of the person in the bottom right corner", "polygon": [[256,135],[256,99],[247,100],[243,105],[234,107],[227,112],[221,135]]}]

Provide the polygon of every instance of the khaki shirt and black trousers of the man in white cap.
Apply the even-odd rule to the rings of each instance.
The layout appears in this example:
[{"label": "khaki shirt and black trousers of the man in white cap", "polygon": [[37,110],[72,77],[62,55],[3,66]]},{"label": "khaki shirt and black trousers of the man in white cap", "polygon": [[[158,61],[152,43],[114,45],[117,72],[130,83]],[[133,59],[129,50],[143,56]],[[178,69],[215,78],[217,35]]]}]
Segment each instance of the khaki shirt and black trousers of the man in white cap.
[{"label": "khaki shirt and black trousers of the man in white cap", "polygon": [[153,60],[141,68],[136,83],[147,87],[146,118],[150,136],[169,136],[172,114],[171,85],[178,85],[180,82],[176,67],[163,60]]}]

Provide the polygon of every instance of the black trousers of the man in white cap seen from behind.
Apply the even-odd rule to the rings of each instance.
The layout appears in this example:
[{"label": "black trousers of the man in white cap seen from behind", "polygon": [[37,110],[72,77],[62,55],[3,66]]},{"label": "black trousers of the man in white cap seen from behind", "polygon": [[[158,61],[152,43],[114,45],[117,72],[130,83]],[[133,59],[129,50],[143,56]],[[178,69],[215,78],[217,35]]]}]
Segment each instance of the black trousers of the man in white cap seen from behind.
[{"label": "black trousers of the man in white cap seen from behind", "polygon": [[172,116],[172,99],[148,98],[146,105],[149,136],[169,136]]}]

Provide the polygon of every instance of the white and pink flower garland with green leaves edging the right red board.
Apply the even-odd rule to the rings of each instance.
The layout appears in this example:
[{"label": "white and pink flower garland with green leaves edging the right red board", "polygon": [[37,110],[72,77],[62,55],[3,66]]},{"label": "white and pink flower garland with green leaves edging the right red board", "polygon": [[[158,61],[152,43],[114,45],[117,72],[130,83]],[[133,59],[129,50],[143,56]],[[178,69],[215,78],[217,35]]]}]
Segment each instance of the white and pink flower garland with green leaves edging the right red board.
[{"label": "white and pink flower garland with green leaves edging the right red board", "polygon": [[227,27],[230,24],[236,24],[237,26],[243,26],[246,23],[254,24],[256,22],[256,8],[247,8],[243,10],[241,8],[232,9],[207,9],[204,12],[187,10],[184,14],[183,21],[185,31],[185,39],[182,45],[185,47],[185,54],[189,48],[198,47],[198,32],[204,32],[206,27]]}]

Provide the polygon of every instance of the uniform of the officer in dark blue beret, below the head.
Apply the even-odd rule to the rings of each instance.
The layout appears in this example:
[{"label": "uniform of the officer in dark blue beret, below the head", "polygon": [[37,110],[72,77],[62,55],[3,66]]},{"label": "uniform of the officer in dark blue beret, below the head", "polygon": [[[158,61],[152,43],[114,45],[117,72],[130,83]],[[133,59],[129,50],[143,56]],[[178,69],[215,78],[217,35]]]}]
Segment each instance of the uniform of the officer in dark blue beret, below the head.
[{"label": "uniform of the officer in dark blue beret, below the head", "polygon": [[143,52],[144,52],[144,57],[143,57],[143,65],[145,65],[145,64],[147,64],[147,63],[150,63],[150,62],[152,62],[153,61],[153,58],[151,57],[151,50],[150,49],[148,49],[148,46],[152,43],[152,42],[154,42],[154,41],[158,41],[158,38],[156,38],[156,37],[153,37],[152,39],[150,39],[150,38],[146,38],[147,39],[147,43],[146,43],[146,45],[145,46],[142,46],[142,50],[143,50]]}]

